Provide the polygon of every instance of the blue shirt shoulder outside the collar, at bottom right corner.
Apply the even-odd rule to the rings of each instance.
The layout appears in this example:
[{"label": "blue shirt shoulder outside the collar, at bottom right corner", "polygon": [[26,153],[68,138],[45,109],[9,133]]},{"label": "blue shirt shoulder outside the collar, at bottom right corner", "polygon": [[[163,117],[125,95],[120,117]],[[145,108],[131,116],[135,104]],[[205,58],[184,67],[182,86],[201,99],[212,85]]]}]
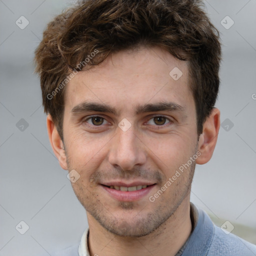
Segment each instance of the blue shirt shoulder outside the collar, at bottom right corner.
[{"label": "blue shirt shoulder outside the collar, at bottom right corner", "polygon": [[256,245],[214,225],[214,235],[207,256],[255,256]]}]

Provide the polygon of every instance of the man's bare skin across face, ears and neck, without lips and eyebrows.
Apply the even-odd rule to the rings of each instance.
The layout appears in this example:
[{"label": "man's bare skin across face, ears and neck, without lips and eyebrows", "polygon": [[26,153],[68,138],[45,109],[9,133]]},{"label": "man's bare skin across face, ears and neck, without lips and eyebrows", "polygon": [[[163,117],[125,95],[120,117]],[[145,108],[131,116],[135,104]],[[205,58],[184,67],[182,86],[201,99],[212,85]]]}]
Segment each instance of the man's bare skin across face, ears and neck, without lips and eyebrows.
[{"label": "man's bare skin across face, ears and neck, without lips and eyebrows", "polygon": [[[174,67],[182,71],[178,80],[169,75]],[[214,108],[198,139],[188,84],[187,62],[159,47],[120,51],[78,72],[66,85],[63,143],[47,116],[49,139],[61,167],[80,175],[72,187],[86,209],[90,255],[175,255],[188,238],[195,162],[211,158],[220,123]],[[72,111],[84,101],[109,105],[116,113]],[[138,104],[163,101],[180,105],[182,111],[136,113]],[[92,122],[91,115],[99,118]],[[123,118],[131,124],[126,131],[118,126]],[[189,168],[149,201],[196,152],[200,155]],[[116,180],[155,185],[138,200],[120,201],[101,185]]]}]

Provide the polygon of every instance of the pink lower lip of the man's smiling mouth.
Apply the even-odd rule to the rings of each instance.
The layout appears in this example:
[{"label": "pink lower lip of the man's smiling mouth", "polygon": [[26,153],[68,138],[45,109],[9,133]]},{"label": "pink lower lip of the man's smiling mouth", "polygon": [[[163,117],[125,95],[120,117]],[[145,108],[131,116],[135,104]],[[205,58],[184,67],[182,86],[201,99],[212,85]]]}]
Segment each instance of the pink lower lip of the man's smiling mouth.
[{"label": "pink lower lip of the man's smiling mouth", "polygon": [[141,188],[140,190],[135,191],[121,191],[113,188],[109,188],[107,186],[101,185],[113,198],[118,201],[136,201],[140,198],[144,197],[149,191],[155,186],[149,185],[146,188]]}]

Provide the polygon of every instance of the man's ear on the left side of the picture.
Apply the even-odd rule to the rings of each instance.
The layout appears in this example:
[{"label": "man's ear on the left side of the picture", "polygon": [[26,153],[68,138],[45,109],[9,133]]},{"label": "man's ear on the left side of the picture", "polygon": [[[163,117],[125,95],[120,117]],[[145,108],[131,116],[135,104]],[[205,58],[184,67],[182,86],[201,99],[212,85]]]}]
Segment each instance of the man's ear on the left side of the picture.
[{"label": "man's ear on the left side of the picture", "polygon": [[47,115],[46,123],[47,123],[48,136],[49,136],[49,141],[50,141],[52,150],[56,155],[61,168],[67,170],[64,145],[62,143],[62,140],[58,134],[58,131],[56,129],[56,126],[50,114]]}]

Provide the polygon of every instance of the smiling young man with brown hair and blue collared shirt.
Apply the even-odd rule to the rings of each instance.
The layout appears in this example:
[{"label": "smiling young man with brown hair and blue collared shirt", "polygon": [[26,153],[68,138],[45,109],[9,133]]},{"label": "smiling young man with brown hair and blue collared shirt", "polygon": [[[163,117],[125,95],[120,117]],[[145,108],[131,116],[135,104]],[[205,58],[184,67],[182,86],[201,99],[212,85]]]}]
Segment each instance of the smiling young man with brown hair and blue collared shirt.
[{"label": "smiling young man with brown hair and blue collared shirt", "polygon": [[190,203],[220,112],[218,31],[199,0],[86,0],[35,52],[52,149],[89,228],[59,255],[256,255]]}]

